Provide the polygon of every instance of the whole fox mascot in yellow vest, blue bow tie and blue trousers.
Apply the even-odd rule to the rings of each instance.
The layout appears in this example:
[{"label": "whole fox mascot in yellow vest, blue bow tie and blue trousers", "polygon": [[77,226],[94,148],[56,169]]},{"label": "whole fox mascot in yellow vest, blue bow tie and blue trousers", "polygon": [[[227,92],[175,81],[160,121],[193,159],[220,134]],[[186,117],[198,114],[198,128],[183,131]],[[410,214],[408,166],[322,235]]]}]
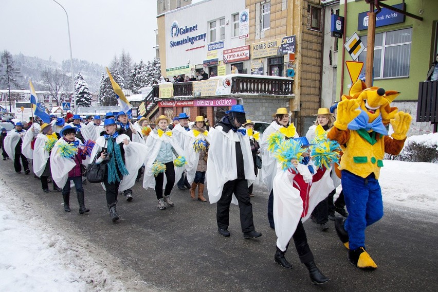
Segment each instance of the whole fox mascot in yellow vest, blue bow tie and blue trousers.
[{"label": "whole fox mascot in yellow vest, blue bow tie and blue trousers", "polygon": [[[365,229],[383,216],[378,178],[385,152],[397,155],[403,149],[412,120],[390,106],[399,94],[356,81],[349,96],[343,95],[338,103],[334,127],[327,134],[343,146],[339,169],[349,216],[336,218],[336,232],[349,249],[349,261],[362,269],[377,268],[366,251]],[[394,130],[391,137],[385,127],[389,123]]]}]

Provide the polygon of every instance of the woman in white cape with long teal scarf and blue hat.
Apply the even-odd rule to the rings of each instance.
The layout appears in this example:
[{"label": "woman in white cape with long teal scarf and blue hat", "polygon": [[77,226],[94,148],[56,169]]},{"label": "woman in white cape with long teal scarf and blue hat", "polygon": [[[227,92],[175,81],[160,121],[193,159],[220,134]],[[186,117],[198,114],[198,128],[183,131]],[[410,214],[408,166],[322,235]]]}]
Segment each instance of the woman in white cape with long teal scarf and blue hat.
[{"label": "woman in white cape with long teal scarf and blue hat", "polygon": [[137,171],[146,160],[148,150],[117,131],[114,119],[105,119],[103,127],[105,130],[97,138],[90,159],[106,164],[103,186],[111,220],[116,222],[119,220],[116,209],[118,192],[134,186]]}]

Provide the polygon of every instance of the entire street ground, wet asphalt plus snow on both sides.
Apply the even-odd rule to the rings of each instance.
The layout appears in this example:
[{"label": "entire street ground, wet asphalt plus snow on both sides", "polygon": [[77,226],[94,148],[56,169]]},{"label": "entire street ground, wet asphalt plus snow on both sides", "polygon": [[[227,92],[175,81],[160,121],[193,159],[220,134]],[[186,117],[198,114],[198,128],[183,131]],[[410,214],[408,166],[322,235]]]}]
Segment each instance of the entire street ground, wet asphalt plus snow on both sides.
[{"label": "entire street ground, wet asphalt plus snow on both sides", "polygon": [[[438,287],[438,165],[384,164],[379,181],[385,216],[367,229],[377,270],[348,262],[333,222],[327,232],[310,220],[304,224],[315,261],[332,279],[326,290]],[[254,187],[251,199],[263,236],[244,240],[236,206],[231,237],[223,238],[216,206],[191,201],[189,191],[174,189],[175,207],[160,211],[153,190],[137,184],[133,202],[119,196],[121,220],[113,224],[99,184],[84,186],[90,212],[80,215],[74,192],[66,213],[61,193],[43,193],[40,181],[15,174],[11,161],[2,161],[0,177],[1,291],[315,290],[294,248],[286,253],[294,269],[273,262],[276,236],[267,223],[264,188]]]}]

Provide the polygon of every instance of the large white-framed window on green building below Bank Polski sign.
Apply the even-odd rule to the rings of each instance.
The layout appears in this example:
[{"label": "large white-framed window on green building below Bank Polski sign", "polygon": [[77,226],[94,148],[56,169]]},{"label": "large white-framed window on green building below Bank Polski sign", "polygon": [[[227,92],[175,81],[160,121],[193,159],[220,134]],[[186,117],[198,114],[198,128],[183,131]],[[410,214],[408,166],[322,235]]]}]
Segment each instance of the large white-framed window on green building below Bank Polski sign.
[{"label": "large white-framed window on green building below Bank Polski sign", "polygon": [[[367,36],[360,40],[367,46]],[[409,77],[412,28],[376,33],[374,39],[374,79]],[[359,56],[365,72],[367,49]]]}]

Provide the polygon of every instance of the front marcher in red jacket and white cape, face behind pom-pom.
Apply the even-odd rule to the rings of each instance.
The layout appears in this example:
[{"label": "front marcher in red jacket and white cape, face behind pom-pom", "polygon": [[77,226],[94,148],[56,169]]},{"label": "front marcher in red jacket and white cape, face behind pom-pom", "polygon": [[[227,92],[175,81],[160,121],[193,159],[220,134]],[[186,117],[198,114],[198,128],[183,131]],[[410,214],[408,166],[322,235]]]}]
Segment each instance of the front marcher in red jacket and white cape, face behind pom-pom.
[{"label": "front marcher in red jacket and white cape, face behind pom-pom", "polygon": [[[302,143],[307,151],[302,153],[302,161],[290,160],[295,166],[278,172],[273,180],[273,218],[277,234],[276,253],[274,261],[284,268],[291,269],[292,265],[284,254],[291,238],[301,263],[303,263],[311,278],[312,284],[324,284],[330,279],[325,277],[314,262],[314,256],[307,243],[303,222],[307,220],[315,206],[334,189],[330,178],[330,170],[320,166],[315,170],[309,166],[309,143],[306,137],[295,138]],[[285,157],[290,157],[285,155]]]}]

